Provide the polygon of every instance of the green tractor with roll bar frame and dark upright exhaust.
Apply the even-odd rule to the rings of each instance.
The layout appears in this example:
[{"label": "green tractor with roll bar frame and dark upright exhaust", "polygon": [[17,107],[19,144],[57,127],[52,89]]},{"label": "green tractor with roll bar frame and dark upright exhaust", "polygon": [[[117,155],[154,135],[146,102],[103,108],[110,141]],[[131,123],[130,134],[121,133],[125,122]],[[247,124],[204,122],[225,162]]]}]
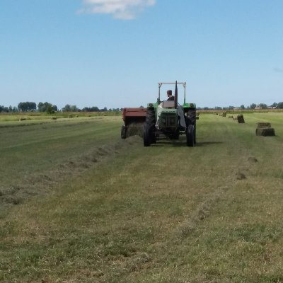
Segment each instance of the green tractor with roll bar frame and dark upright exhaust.
[{"label": "green tractor with roll bar frame and dark upright exhaust", "polygon": [[[186,83],[175,81],[174,100],[160,100],[160,89],[163,84],[158,83],[158,98],[156,103],[149,103],[144,122],[144,146],[155,144],[158,137],[179,139],[180,134],[187,137],[187,146],[196,143],[196,106],[195,103],[186,103]],[[184,88],[184,103],[178,103],[178,84]]]}]

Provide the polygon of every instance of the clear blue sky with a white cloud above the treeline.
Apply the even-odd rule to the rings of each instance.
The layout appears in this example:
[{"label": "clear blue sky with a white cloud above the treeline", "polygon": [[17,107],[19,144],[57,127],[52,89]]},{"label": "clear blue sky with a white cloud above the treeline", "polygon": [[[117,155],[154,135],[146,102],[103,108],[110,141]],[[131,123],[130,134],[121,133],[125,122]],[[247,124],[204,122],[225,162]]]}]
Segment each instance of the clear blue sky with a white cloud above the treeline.
[{"label": "clear blue sky with a white cloud above the treeline", "polygon": [[0,105],[139,107],[175,80],[200,107],[283,101],[283,1],[0,1]]}]

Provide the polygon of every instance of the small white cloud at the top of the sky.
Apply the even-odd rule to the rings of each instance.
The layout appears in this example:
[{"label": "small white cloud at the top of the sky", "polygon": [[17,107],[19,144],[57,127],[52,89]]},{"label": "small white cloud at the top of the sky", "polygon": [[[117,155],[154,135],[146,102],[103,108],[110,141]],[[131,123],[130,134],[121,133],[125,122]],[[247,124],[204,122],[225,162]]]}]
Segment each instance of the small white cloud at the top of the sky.
[{"label": "small white cloud at the top of the sky", "polygon": [[156,0],[83,0],[80,13],[112,14],[114,18],[132,20],[147,6],[154,6]]}]

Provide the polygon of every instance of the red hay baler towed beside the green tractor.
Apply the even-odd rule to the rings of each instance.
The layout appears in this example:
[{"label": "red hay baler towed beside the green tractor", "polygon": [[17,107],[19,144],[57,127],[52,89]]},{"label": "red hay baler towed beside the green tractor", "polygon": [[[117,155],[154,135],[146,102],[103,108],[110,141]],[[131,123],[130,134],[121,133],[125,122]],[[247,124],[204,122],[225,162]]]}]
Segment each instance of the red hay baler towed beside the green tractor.
[{"label": "red hay baler towed beside the green tractor", "polygon": [[124,125],[121,128],[121,138],[139,135],[143,136],[143,127],[146,120],[146,108],[123,108]]}]

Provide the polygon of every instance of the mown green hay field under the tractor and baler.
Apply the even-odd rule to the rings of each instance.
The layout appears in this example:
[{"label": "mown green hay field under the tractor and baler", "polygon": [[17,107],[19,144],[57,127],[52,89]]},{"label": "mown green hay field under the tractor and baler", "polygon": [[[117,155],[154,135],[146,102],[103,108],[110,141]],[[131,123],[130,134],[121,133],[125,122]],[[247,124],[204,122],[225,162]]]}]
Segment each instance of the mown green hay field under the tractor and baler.
[{"label": "mown green hay field under the tractor and baler", "polygon": [[244,117],[201,114],[193,148],[0,122],[0,282],[283,282],[283,113]]}]

